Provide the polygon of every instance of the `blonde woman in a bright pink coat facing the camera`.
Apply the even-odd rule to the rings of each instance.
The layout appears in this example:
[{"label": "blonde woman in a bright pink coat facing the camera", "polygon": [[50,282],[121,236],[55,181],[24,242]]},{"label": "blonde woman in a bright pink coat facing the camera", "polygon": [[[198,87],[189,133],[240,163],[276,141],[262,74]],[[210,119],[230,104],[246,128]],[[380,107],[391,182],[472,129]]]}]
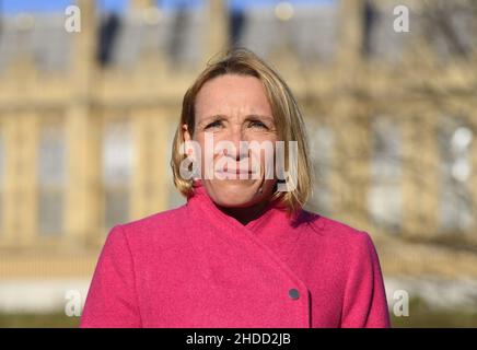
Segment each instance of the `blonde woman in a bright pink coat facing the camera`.
[{"label": "blonde woman in a bright pink coat facing the camera", "polygon": [[187,91],[171,164],[187,203],[112,229],[82,327],[389,326],[368,233],[302,209],[303,120],[254,54],[228,52]]}]

